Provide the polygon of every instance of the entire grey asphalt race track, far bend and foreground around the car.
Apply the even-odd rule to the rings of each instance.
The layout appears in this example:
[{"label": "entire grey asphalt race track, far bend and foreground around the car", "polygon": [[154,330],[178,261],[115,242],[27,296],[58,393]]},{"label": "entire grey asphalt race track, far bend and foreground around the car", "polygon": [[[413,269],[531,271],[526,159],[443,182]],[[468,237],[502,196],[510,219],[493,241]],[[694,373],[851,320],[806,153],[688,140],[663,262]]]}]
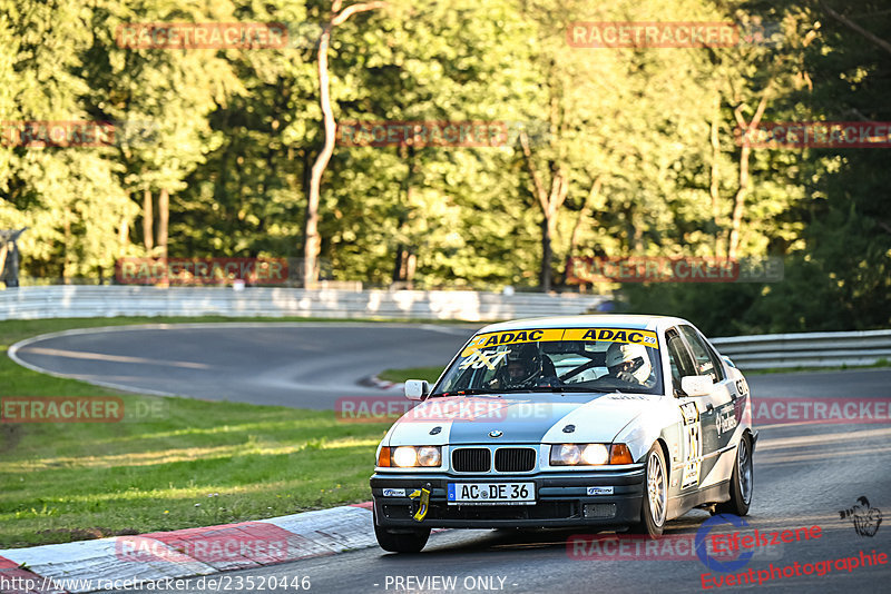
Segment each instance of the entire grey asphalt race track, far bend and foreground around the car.
[{"label": "entire grey asphalt race track, far bend and foreground around the car", "polygon": [[[472,328],[410,325],[277,325],[116,330],[48,338],[19,348],[29,365],[134,389],[156,389],[213,399],[244,399],[330,407],[344,389],[388,367],[444,365]],[[84,353],[90,354],[86,358]],[[96,357],[94,357],[96,355]],[[124,357],[115,358],[115,357]],[[170,366],[170,363],[184,365]],[[891,370],[826,372],[751,376],[753,397],[887,398]],[[758,550],[752,568],[814,564],[861,552],[891,557],[891,426],[885,424],[790,424],[757,427],[755,495],[748,528],[784,531],[819,525],[821,537]],[[885,519],[874,536],[861,536],[840,511],[866,496]],[[667,535],[693,535],[709,516],[694,511],[669,522]],[[878,516],[877,516],[878,517]],[[716,528],[730,532],[730,526]],[[703,574],[722,574],[696,558],[578,558],[567,538],[574,532],[513,533],[448,531],[434,534],[420,555],[353,551],[258,570],[223,574],[208,587],[193,578],[180,592],[295,592],[307,576],[311,592],[702,592]],[[891,561],[891,560],[889,560]],[[764,574],[767,575],[767,574]],[[839,568],[825,575],[776,577],[762,584],[709,588],[776,592],[888,592],[891,564]],[[424,577],[454,577],[456,590]],[[270,578],[276,586],[270,587]],[[409,578],[412,578],[409,582]],[[479,577],[488,578],[483,582]],[[248,587],[247,578],[254,587]],[[241,584],[241,586],[239,586]],[[396,585],[401,587],[396,587]],[[481,586],[480,584],[486,584]],[[410,586],[410,587],[409,587]]]}]

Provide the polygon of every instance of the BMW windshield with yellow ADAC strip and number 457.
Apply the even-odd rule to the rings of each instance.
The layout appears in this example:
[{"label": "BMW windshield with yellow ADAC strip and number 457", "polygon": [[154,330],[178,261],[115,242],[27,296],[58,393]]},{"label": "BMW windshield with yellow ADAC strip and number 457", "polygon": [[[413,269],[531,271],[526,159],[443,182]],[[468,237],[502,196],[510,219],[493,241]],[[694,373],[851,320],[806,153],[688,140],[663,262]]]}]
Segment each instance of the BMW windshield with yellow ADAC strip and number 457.
[{"label": "BMW windshield with yellow ADAC strip and number 457", "polygon": [[505,392],[662,394],[655,331],[633,328],[528,328],[478,334],[434,396]]}]

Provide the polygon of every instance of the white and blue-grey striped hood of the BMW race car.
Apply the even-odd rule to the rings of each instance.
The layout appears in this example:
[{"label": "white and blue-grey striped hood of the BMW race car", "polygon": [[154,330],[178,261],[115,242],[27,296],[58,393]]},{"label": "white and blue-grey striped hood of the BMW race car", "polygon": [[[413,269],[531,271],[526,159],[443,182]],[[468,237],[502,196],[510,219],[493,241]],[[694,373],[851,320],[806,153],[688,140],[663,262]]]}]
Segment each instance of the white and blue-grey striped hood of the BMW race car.
[{"label": "white and blue-grey striped hood of the BMW race car", "polygon": [[[656,398],[538,393],[430,398],[393,425],[389,445],[609,443]],[[568,425],[571,432],[565,430]]]}]

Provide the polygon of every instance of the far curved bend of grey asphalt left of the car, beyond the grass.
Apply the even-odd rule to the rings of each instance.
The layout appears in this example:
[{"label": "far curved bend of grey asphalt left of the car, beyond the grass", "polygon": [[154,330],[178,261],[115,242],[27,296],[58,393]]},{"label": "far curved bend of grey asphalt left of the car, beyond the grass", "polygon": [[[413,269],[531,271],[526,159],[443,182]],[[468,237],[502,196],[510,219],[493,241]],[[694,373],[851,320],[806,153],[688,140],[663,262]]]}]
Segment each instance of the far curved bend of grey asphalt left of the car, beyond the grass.
[{"label": "far curved bend of grey asphalt left of the car, beyond the grass", "polygon": [[[232,323],[75,330],[16,349],[26,365],[99,385],[297,408],[381,394],[383,369],[444,367],[479,326]],[[395,392],[395,390],[391,390]]]}]

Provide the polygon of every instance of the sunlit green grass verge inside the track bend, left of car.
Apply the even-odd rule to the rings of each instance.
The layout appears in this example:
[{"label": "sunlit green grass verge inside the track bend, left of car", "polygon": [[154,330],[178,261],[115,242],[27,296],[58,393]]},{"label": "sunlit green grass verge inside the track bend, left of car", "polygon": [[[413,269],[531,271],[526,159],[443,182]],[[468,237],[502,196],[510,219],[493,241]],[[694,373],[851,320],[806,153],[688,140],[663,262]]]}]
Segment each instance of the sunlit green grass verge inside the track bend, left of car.
[{"label": "sunlit green grass verge inside the track bend, left of car", "polygon": [[[69,328],[218,320],[233,319],[2,321],[0,350]],[[341,423],[333,412],[124,394],[0,357],[0,397],[102,395],[121,398],[124,420],[0,423],[0,548],[368,501],[374,449],[389,426]]]}]

